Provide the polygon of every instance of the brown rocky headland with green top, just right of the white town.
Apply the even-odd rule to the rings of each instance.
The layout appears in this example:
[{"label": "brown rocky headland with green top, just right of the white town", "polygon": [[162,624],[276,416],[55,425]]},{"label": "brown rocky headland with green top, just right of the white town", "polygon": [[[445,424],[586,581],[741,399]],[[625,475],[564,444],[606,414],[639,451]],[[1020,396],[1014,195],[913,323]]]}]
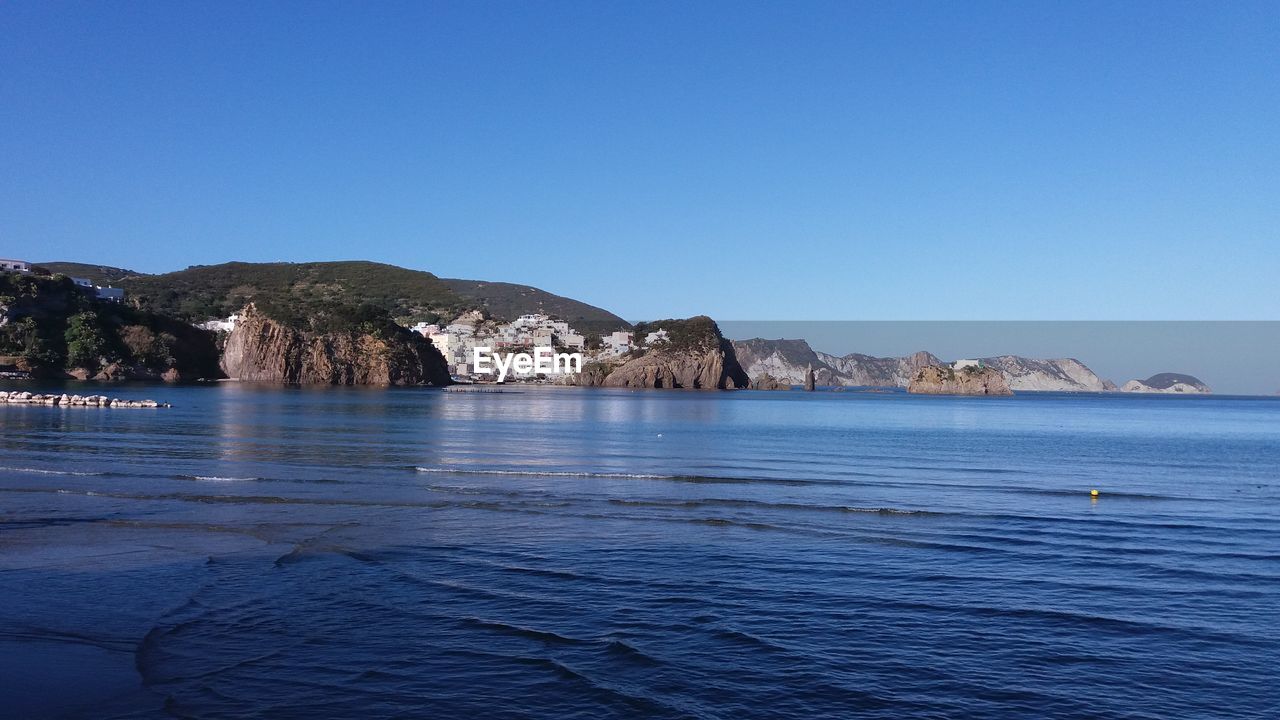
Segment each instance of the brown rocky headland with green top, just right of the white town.
[{"label": "brown rocky headland with green top, just right of the white town", "polygon": [[666,331],[667,340],[609,365],[584,368],[579,384],[636,388],[736,389],[750,379],[739,365],[733,345],[704,315],[636,325],[637,338]]}]

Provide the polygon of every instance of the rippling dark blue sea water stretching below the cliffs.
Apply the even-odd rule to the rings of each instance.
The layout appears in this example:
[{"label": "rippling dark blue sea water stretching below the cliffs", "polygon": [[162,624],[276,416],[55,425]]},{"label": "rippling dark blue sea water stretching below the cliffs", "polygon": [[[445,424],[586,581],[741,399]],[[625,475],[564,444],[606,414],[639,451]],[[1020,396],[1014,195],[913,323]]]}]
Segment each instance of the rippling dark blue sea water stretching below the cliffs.
[{"label": "rippling dark blue sea water stretching below the cliffs", "polygon": [[1280,716],[1274,398],[110,393],[0,406],[6,717]]}]

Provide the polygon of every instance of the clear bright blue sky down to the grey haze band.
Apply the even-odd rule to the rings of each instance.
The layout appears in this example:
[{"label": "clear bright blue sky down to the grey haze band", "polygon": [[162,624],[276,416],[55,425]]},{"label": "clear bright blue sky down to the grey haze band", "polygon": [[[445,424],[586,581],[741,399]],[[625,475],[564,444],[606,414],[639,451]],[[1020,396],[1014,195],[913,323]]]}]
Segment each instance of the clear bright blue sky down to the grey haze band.
[{"label": "clear bright blue sky down to the grey haze band", "polygon": [[0,4],[0,255],[1277,319],[1280,4]]}]

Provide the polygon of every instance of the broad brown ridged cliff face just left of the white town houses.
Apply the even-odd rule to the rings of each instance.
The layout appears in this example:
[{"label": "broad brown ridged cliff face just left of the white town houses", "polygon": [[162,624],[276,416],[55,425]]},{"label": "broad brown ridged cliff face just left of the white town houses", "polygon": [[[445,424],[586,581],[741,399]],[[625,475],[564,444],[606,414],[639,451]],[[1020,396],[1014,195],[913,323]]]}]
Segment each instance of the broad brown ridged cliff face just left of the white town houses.
[{"label": "broad brown ridged cliff face just left of the white town houses", "polygon": [[444,357],[394,325],[316,333],[276,322],[252,305],[225,338],[228,378],[298,384],[448,384]]}]

